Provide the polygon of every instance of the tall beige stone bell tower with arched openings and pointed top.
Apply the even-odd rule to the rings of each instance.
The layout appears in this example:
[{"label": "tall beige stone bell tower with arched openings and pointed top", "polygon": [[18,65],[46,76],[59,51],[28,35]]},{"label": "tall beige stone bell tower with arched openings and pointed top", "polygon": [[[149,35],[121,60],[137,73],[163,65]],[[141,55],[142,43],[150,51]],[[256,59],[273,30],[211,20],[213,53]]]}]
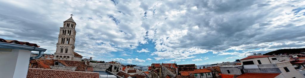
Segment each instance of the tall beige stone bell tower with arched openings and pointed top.
[{"label": "tall beige stone bell tower with arched openings and pointed top", "polygon": [[60,28],[58,42],[56,44],[56,52],[54,53],[55,60],[74,60],[81,61],[82,56],[74,52],[76,23],[69,18],[63,22],[63,27]]}]

